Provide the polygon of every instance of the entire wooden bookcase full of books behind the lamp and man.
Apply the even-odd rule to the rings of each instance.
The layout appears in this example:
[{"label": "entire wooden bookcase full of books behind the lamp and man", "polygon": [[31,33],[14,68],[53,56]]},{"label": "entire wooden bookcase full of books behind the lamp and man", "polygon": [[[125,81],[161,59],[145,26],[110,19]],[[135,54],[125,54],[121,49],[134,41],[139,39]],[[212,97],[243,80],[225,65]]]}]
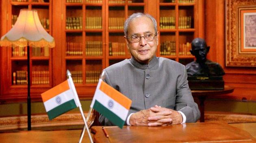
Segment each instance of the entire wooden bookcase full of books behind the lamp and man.
[{"label": "entire wooden bookcase full of books behind the lamp and man", "polygon": [[[37,9],[46,31],[55,39],[56,47],[29,48],[31,54],[32,100],[66,80],[69,69],[80,98],[91,99],[102,69],[131,57],[124,41],[124,20],[136,12],[150,13],[158,22],[160,32],[156,55],[182,64],[194,60],[190,42],[203,38],[204,0],[3,0],[6,2],[7,29],[15,22],[20,9]],[[3,5],[3,4],[2,4]],[[202,5],[202,6],[201,6]],[[15,16],[17,15],[17,16]],[[10,20],[8,20],[10,19]],[[3,99],[26,99],[27,47],[2,49],[1,96]],[[8,54],[5,55],[4,53]],[[7,62],[4,62],[6,60]],[[7,63],[7,64],[5,64]],[[17,84],[17,71],[19,84]],[[15,73],[15,76],[13,76]],[[16,78],[15,83],[13,79]],[[5,82],[7,84],[3,84]]]}]

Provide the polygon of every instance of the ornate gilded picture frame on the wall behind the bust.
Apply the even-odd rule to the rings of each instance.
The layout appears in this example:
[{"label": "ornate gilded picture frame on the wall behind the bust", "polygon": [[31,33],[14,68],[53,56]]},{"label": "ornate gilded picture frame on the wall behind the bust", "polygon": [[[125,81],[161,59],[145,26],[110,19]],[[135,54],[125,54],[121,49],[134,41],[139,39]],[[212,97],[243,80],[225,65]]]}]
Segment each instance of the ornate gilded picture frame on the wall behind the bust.
[{"label": "ornate gilded picture frame on the wall behind the bust", "polygon": [[254,0],[226,0],[226,66],[256,67]]}]

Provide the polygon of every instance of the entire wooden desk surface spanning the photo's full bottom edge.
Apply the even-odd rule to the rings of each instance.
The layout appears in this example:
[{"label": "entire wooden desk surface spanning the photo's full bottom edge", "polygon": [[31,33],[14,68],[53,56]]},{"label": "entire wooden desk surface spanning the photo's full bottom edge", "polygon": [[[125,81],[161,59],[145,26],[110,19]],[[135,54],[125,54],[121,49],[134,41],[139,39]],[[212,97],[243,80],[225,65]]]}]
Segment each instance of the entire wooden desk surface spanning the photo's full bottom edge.
[{"label": "entire wooden desk surface spanning the photo's full bottom edge", "polygon": [[[106,140],[113,142],[113,137],[122,139],[121,142],[192,142],[192,141],[229,141],[229,142],[253,142],[256,141],[256,123],[239,124],[216,124],[216,123],[186,123],[165,127],[130,126],[119,129],[117,127],[106,128],[110,135],[107,139],[102,132],[101,126],[94,126],[91,130],[97,132],[94,141]],[[235,127],[232,127],[235,126]],[[239,129],[240,128],[240,129]],[[241,130],[243,129],[243,130]],[[246,130],[247,132],[245,132]],[[72,130],[32,130],[21,132],[0,133],[1,143],[77,143],[82,129]],[[165,134],[167,132],[167,134]],[[249,135],[249,133],[252,135]],[[143,140],[141,141],[141,138]],[[114,138],[115,139],[115,138]],[[130,140],[129,140],[130,139]],[[152,140],[150,140],[152,139]],[[89,143],[87,133],[82,143]],[[205,143],[205,142],[204,142]]]}]

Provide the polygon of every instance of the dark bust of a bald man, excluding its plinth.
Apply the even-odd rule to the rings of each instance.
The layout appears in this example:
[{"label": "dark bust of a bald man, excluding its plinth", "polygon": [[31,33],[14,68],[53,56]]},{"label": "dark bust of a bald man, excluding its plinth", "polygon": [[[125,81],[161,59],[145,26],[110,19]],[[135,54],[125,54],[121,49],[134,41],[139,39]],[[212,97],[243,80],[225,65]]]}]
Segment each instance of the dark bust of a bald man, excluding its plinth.
[{"label": "dark bust of a bald man, excluding its plinth", "polygon": [[206,59],[210,46],[202,38],[195,38],[191,43],[190,53],[196,60],[186,65],[188,76],[223,76],[225,74],[222,67],[213,61]]}]

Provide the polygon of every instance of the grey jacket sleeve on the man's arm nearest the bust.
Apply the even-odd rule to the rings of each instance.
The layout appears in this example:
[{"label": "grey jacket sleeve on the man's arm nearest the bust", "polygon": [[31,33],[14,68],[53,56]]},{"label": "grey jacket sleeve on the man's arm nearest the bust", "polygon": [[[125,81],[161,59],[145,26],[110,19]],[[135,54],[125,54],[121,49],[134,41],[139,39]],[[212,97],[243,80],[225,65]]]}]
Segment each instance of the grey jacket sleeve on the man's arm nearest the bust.
[{"label": "grey jacket sleeve on the man's arm nearest the bust", "polygon": [[197,122],[200,118],[200,111],[198,109],[197,103],[194,99],[189,89],[189,82],[187,80],[187,71],[184,67],[183,75],[177,78],[176,86],[176,103],[175,110],[181,111],[186,116],[186,122]]}]

